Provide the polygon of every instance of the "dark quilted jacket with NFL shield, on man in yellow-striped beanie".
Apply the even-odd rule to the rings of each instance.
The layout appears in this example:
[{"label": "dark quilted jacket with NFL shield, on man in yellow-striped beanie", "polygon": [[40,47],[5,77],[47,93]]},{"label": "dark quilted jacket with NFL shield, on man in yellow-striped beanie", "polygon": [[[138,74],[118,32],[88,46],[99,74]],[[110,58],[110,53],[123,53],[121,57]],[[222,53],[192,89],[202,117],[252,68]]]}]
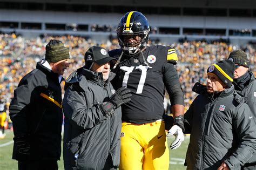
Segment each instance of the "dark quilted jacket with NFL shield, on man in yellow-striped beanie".
[{"label": "dark quilted jacket with NFL shield, on man in yellow-striped beanie", "polygon": [[195,91],[201,94],[184,115],[186,133],[191,133],[185,166],[217,169],[224,161],[231,169],[240,169],[256,147],[256,126],[250,108],[233,86],[215,99],[204,90]]}]

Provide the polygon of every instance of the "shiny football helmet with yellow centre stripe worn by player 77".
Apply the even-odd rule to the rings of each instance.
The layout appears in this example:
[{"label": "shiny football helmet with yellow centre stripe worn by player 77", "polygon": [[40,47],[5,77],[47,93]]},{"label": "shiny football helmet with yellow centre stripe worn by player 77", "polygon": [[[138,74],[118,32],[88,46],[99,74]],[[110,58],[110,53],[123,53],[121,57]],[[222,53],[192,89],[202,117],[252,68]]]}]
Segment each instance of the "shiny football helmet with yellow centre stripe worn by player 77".
[{"label": "shiny football helmet with yellow centre stripe worn by player 77", "polygon": [[[147,18],[140,12],[131,11],[125,13],[117,27],[117,37],[120,47],[126,55],[134,56],[143,50],[149,40],[150,26]],[[138,37],[137,37],[138,36]],[[134,42],[126,39],[133,38]]]}]

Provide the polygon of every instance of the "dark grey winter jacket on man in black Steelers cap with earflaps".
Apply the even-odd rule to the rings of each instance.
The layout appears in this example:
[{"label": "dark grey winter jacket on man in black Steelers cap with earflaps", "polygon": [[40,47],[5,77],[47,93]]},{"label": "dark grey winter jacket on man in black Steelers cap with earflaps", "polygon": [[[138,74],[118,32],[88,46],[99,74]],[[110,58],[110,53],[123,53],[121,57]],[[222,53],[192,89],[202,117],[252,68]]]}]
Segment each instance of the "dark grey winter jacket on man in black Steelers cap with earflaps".
[{"label": "dark grey winter jacket on man in black Steelers cap with earflaps", "polygon": [[110,169],[119,166],[121,108],[109,117],[99,104],[114,93],[110,80],[84,67],[66,80],[63,157],[65,169]]}]

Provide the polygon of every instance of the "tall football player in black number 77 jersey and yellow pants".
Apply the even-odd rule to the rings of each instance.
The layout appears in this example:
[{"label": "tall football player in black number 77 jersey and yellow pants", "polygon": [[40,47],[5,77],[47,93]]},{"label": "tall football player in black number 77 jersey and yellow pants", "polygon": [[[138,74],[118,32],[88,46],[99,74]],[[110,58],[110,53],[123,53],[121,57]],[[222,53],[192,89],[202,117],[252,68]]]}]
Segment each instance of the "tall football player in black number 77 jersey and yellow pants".
[{"label": "tall football player in black number 77 jersey and yellow pants", "polygon": [[184,140],[184,98],[174,65],[176,51],[171,46],[146,46],[149,23],[136,11],[127,12],[118,24],[117,36],[121,49],[110,51],[118,59],[113,63],[117,74],[112,81],[115,88],[127,86],[132,91],[131,101],[122,106],[120,169],[168,169],[164,117],[165,88],[175,117],[172,134],[177,148]]}]

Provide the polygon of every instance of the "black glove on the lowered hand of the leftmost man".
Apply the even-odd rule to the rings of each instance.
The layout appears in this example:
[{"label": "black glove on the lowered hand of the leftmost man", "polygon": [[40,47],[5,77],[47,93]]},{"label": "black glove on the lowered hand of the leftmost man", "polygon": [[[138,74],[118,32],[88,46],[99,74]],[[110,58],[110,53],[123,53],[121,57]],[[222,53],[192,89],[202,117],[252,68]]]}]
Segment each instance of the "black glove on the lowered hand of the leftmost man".
[{"label": "black glove on the lowered hand of the leftmost man", "polygon": [[30,140],[27,136],[14,137],[14,152],[17,160],[26,160],[30,157]]}]

